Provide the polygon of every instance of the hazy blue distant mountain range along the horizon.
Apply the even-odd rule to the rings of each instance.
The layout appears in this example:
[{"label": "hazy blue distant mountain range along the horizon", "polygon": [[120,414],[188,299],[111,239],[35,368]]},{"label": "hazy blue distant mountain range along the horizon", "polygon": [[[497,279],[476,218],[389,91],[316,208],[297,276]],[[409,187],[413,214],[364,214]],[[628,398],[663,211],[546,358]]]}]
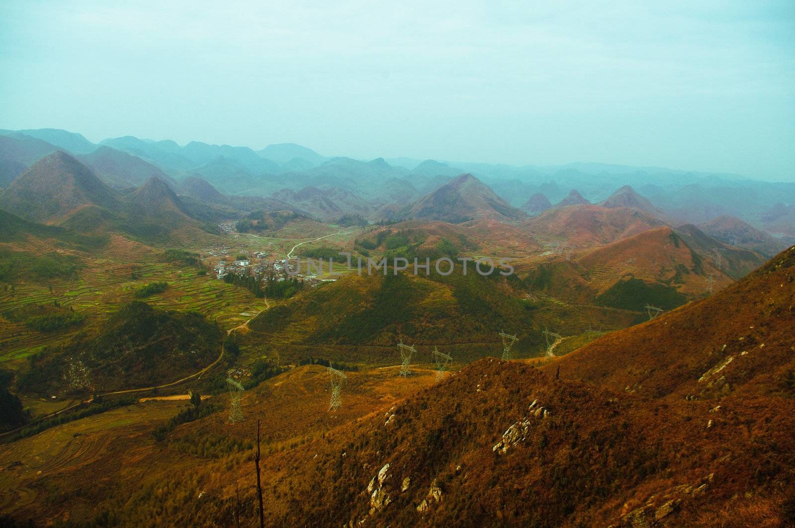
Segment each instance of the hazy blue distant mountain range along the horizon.
[{"label": "hazy blue distant mountain range along the horizon", "polygon": [[[156,177],[179,193],[181,181],[199,178],[227,198],[241,196],[232,200],[235,204],[227,200],[223,207],[243,212],[276,200],[282,207],[287,204],[324,220],[348,214],[374,221],[516,220],[525,213],[545,212],[552,204],[560,208],[598,203],[605,208],[634,208],[670,225],[704,225],[732,216],[775,238],[795,237],[795,183],[590,163],[513,167],[395,158],[390,164],[382,158],[324,157],[293,143],[254,150],[203,142],[180,146],[170,140],[124,136],[95,145],[65,130],[0,130],[0,187],[10,188],[25,169],[56,150],[72,154],[111,188],[134,188]],[[463,173],[479,184],[472,189],[461,182],[447,186]],[[287,192],[301,195],[306,188],[316,191],[303,197]],[[11,189],[12,195],[15,192]],[[215,212],[204,216],[212,215]],[[759,243],[756,235],[754,247],[766,254],[781,246],[768,241],[762,249]]]}]

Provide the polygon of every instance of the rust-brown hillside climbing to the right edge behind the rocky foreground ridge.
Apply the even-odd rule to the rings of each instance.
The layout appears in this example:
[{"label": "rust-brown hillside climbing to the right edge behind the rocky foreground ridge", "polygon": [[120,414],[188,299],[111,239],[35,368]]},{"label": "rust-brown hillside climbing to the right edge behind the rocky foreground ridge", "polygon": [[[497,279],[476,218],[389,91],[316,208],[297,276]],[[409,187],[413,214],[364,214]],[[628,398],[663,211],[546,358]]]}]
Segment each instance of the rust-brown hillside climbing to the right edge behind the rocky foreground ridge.
[{"label": "rust-brown hillside climbing to the right edge behind the rocky foreground ridge", "polygon": [[561,375],[653,397],[774,395],[795,359],[795,247],[714,296],[603,336]]}]

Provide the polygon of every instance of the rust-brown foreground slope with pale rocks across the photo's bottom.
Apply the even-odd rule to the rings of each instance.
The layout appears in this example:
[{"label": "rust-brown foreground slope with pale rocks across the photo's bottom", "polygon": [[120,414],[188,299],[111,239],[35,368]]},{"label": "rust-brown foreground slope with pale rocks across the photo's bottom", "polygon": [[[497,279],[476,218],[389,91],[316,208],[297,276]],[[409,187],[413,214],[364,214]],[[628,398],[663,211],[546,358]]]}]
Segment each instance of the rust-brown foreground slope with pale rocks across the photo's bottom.
[{"label": "rust-brown foreground slope with pale rocks across the photo's bottom", "polygon": [[237,511],[248,526],[256,417],[266,526],[792,526],[793,293],[795,248],[541,369],[481,359],[434,386],[417,367],[349,373],[335,413],[323,369],[300,367],[243,394],[246,421],[218,394],[160,441],[118,414],[100,418],[112,437],[78,421],[44,433],[68,446],[57,456],[35,437],[0,449],[17,497],[2,507],[86,526]]}]

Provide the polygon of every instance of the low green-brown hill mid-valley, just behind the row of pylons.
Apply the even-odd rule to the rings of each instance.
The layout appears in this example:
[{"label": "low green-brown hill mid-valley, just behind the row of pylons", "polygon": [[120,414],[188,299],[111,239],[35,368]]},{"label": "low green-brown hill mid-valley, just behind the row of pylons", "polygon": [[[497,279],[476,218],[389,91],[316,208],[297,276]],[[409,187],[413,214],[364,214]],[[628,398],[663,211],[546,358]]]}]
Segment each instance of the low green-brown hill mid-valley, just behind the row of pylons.
[{"label": "low green-brown hill mid-valley, just behind the row of pylons", "polygon": [[[281,348],[338,347],[346,357],[334,359],[378,363],[394,360],[402,339],[452,347],[456,360],[468,360],[501,351],[496,334],[504,328],[521,336],[515,350],[526,354],[541,341],[535,305],[519,298],[524,289],[497,273],[350,274],[262,313],[249,324],[249,338]],[[360,348],[368,350],[361,355]]]}]

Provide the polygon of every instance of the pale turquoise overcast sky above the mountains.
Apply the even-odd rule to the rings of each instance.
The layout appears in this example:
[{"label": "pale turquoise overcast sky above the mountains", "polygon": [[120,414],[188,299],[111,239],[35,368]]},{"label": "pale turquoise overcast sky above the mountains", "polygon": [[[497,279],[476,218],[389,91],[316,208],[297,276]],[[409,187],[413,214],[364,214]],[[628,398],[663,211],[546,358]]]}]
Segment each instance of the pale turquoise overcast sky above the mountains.
[{"label": "pale turquoise overcast sky above the mountains", "polygon": [[795,181],[795,2],[2,0],[0,128]]}]

